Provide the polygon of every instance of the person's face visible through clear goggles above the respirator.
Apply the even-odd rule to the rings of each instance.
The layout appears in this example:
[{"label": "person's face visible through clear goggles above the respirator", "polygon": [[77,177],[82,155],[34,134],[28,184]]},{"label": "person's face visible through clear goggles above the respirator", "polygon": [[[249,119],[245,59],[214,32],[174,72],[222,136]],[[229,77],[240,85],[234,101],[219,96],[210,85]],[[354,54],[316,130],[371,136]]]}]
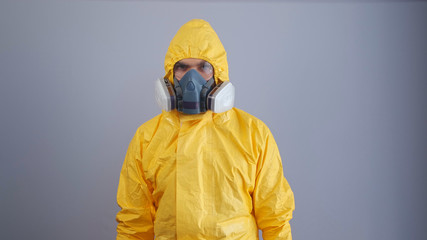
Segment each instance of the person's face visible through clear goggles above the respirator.
[{"label": "person's face visible through clear goggles above the respirator", "polygon": [[191,69],[195,69],[205,80],[213,77],[212,65],[197,58],[186,58],[175,63],[173,67],[174,76],[179,81]]}]

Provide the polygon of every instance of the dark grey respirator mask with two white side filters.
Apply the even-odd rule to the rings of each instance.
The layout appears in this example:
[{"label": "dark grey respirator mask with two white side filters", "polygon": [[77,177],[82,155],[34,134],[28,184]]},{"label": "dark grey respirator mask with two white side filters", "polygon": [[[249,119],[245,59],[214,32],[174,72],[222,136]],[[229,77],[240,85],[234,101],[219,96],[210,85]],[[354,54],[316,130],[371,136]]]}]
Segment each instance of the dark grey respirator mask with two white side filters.
[{"label": "dark grey respirator mask with two white side filters", "polygon": [[156,102],[167,112],[177,109],[185,114],[198,114],[207,110],[221,113],[234,106],[234,86],[228,81],[216,85],[213,77],[205,80],[196,70],[191,69],[181,80],[174,78],[174,83],[166,78],[159,78],[155,83]]}]

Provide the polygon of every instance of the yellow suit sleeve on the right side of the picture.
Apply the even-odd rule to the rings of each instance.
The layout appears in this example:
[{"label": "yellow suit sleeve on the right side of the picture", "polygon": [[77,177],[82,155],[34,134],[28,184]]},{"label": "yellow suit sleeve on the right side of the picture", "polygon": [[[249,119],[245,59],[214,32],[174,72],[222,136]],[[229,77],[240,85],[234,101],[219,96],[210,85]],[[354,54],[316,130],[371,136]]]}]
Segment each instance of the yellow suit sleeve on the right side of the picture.
[{"label": "yellow suit sleeve on the right side of the picture", "polygon": [[294,194],[283,176],[277,144],[268,131],[258,159],[253,192],[254,213],[265,240],[291,240],[289,221],[295,209]]}]

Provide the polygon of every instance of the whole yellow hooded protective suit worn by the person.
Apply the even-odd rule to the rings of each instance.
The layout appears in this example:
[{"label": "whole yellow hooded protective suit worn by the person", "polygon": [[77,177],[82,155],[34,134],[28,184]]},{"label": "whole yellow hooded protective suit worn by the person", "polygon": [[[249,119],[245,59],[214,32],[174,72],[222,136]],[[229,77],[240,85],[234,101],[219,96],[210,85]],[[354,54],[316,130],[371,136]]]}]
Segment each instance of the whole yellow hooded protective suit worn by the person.
[{"label": "whole yellow hooded protective suit worn by the person", "polygon": [[[200,58],[228,81],[226,52],[203,20],[181,27],[165,60]],[[117,193],[117,239],[292,239],[294,197],[272,134],[242,110],[162,112],[130,142]]]}]

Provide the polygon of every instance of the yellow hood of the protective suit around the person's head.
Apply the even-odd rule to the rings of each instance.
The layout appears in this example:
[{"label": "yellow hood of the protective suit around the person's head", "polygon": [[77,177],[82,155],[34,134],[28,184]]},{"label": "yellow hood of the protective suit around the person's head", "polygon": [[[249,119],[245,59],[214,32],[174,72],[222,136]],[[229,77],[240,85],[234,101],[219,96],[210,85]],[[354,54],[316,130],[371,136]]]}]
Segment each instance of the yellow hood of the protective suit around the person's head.
[{"label": "yellow hood of the protective suit around the person's head", "polygon": [[165,57],[165,77],[173,83],[173,67],[185,58],[198,58],[214,68],[214,79],[229,81],[227,53],[211,25],[201,19],[184,24],[172,39]]}]

